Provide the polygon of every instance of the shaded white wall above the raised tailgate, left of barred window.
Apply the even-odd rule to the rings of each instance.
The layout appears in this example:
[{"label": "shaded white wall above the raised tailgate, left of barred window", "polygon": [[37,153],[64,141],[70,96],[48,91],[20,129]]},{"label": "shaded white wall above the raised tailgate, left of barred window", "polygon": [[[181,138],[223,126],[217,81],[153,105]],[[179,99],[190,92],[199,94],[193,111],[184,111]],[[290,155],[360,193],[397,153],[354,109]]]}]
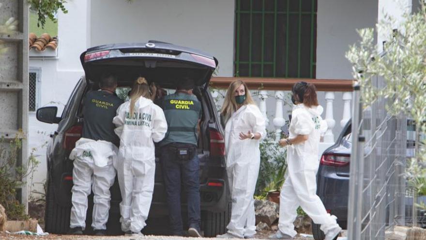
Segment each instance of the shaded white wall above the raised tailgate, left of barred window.
[{"label": "shaded white wall above the raised tailgate, left of barred window", "polygon": [[91,0],[91,46],[158,40],[197,48],[231,77],[234,0]]}]

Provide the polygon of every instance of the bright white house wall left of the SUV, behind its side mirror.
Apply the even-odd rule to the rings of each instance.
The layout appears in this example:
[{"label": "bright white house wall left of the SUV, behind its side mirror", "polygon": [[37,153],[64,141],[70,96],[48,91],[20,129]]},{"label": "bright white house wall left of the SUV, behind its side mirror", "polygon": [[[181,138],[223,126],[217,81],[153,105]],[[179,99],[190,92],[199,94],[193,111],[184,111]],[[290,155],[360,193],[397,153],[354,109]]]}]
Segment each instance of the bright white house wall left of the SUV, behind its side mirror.
[{"label": "bright white house wall left of the SUV, behind its side mirror", "polygon": [[[57,116],[61,116],[76,82],[84,74],[79,56],[87,49],[89,39],[87,36],[90,22],[87,16],[89,3],[87,0],[68,1],[65,7],[69,12],[58,13],[58,58],[30,57],[30,69],[41,69],[38,107],[57,106]],[[31,190],[43,192],[42,183],[46,180],[47,174],[46,141],[50,140],[49,134],[53,133],[58,125],[37,121],[33,112],[29,116],[29,127],[30,151],[36,148],[34,155],[40,161],[33,175]],[[33,193],[32,196],[37,198],[40,195]]]}]

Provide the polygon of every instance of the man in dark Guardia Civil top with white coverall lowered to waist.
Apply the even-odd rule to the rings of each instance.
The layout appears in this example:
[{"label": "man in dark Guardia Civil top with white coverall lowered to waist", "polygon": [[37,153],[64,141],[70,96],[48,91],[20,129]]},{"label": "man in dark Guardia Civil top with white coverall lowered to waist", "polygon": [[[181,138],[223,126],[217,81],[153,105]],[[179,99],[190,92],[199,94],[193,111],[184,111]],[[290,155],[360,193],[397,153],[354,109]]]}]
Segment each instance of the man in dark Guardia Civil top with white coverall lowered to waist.
[{"label": "man in dark Guardia Civil top with white coverall lowered to waist", "polygon": [[115,95],[115,75],[104,74],[99,86],[99,91],[89,92],[85,96],[82,137],[70,154],[70,159],[74,160],[70,234],[82,234],[86,227],[87,196],[91,190],[94,193],[91,226],[96,235],[106,234],[109,188],[116,175],[112,159],[120,143],[114,133],[112,119],[123,101]]}]

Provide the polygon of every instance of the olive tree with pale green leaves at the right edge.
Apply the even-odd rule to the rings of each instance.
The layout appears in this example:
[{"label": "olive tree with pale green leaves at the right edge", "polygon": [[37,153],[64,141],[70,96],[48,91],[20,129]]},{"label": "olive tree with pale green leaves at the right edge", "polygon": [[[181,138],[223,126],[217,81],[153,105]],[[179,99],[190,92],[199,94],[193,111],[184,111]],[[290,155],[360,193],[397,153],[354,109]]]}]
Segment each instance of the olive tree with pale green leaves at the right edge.
[{"label": "olive tree with pale green leaves at the right edge", "polygon": [[[378,50],[374,29],[361,29],[361,40],[350,46],[346,57],[353,64],[353,77],[361,86],[364,107],[387,99],[391,115],[404,114],[416,127],[415,156],[408,161],[406,176],[419,193],[425,186],[426,149],[421,136],[426,133],[426,8],[421,3],[418,13],[406,13],[394,29],[396,20],[385,16],[377,24],[383,33],[383,51]],[[385,86],[377,88],[373,77],[381,76]],[[425,206],[423,206],[425,207]]]}]

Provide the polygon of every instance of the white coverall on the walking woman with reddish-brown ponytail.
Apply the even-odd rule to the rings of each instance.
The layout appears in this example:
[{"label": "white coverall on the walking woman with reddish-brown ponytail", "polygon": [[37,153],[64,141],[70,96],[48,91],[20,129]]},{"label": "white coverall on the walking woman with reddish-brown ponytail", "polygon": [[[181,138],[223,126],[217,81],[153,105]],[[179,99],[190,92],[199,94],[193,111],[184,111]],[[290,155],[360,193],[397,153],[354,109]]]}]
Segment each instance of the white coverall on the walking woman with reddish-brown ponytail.
[{"label": "white coverall on the walking woman with reddish-brown ponytail", "polygon": [[327,213],[317,193],[317,171],[320,165],[318,146],[321,132],[327,129],[319,111],[322,108],[308,108],[298,104],[292,114],[289,138],[308,135],[308,140],[301,144],[289,145],[287,148],[288,170],[286,180],[281,188],[278,228],[284,234],[294,237],[293,222],[297,217],[297,208],[301,206],[321,230],[338,227],[336,217]]}]

